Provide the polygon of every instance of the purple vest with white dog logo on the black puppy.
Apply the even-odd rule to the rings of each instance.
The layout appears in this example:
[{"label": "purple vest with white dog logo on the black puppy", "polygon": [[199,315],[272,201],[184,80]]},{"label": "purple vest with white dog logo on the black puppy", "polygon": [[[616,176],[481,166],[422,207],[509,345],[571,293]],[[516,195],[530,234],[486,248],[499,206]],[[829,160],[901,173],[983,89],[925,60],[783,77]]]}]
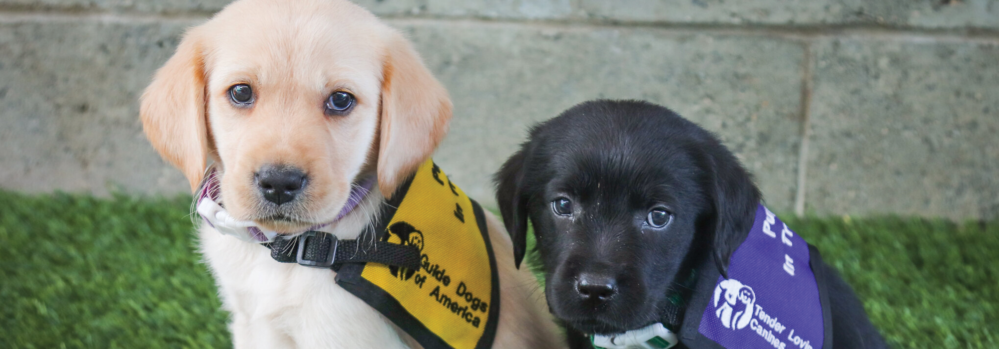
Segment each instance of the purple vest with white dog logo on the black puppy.
[{"label": "purple vest with white dog logo on the black puppy", "polygon": [[760,204],[698,331],[729,349],[820,349],[822,319],[808,244]]}]

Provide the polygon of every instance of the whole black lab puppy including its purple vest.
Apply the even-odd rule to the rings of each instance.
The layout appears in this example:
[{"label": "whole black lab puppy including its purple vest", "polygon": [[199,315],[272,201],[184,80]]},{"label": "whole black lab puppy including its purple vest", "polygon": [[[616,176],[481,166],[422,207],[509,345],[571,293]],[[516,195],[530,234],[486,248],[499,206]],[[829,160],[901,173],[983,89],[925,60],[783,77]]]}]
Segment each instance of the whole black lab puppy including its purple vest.
[{"label": "whole black lab puppy including its purple vest", "polygon": [[[886,347],[731,152],[665,108],[575,106],[535,126],[496,180],[517,266],[529,218],[548,305],[576,348]],[[657,323],[666,340],[635,331]]]}]

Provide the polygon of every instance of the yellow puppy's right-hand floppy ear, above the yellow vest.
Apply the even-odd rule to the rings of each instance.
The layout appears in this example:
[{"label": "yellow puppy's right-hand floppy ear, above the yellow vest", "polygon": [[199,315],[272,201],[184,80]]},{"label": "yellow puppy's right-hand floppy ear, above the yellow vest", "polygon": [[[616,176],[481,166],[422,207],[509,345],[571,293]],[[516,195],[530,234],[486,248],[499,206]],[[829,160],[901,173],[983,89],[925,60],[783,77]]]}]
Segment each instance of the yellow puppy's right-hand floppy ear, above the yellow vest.
[{"label": "yellow puppy's right-hand floppy ear, above the yellow vest", "polygon": [[444,139],[452,104],[448,91],[399,33],[390,35],[382,79],[378,183],[389,197]]}]

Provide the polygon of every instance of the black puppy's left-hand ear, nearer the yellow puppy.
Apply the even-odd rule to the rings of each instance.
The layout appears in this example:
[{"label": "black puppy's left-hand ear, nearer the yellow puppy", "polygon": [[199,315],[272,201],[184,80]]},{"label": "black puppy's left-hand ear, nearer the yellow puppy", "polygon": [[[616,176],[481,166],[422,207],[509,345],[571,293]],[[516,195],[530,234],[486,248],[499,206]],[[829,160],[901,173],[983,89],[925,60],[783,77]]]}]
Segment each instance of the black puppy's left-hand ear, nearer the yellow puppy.
[{"label": "black puppy's left-hand ear, nearer the yellow puppy", "polygon": [[520,268],[520,261],[527,248],[527,197],[522,194],[523,160],[525,148],[506,160],[494,177],[497,184],[497,203],[500,204],[503,224],[513,241],[513,262]]}]

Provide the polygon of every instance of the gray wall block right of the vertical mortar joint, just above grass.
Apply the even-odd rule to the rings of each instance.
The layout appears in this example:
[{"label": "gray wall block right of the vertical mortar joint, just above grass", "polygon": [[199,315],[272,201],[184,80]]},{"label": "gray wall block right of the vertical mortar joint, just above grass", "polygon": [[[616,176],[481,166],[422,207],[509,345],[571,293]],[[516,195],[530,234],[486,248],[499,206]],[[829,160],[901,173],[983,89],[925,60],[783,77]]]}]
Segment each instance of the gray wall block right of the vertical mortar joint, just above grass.
[{"label": "gray wall block right of the vertical mortar joint, just above grass", "polygon": [[808,208],[999,217],[997,44],[817,43]]}]

